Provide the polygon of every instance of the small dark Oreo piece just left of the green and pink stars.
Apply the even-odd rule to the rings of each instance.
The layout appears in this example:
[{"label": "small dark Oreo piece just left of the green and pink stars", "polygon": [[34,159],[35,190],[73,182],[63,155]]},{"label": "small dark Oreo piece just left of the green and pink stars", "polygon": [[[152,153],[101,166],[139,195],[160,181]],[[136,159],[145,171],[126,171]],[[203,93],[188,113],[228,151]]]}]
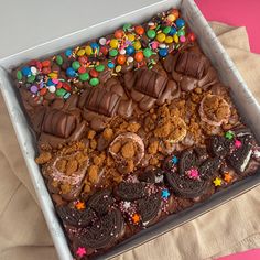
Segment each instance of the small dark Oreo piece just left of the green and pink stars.
[{"label": "small dark Oreo piece just left of the green and pink stars", "polygon": [[208,150],[214,156],[226,156],[230,151],[231,142],[225,137],[214,136],[209,138]]}]

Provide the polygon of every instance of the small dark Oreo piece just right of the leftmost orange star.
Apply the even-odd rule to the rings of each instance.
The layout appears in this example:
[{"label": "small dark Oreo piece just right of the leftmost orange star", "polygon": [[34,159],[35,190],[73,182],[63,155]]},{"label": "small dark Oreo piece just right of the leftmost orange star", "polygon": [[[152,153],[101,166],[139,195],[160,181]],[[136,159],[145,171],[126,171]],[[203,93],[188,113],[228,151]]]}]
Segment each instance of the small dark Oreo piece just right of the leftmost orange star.
[{"label": "small dark Oreo piece just right of the leftmost orange star", "polygon": [[106,214],[112,203],[113,199],[110,189],[97,192],[88,199],[89,207],[91,207],[99,215]]}]

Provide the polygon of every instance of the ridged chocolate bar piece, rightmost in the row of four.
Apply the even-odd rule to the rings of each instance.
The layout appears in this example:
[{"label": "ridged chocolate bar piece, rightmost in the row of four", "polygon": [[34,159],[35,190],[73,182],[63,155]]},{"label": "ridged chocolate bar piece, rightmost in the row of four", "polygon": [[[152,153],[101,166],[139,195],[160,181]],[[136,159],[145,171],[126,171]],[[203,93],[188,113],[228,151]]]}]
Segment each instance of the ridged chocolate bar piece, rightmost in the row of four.
[{"label": "ridged chocolate bar piece, rightmost in the row of four", "polygon": [[201,79],[206,69],[206,59],[204,56],[194,52],[183,52],[180,54],[176,63],[176,72],[187,76]]}]

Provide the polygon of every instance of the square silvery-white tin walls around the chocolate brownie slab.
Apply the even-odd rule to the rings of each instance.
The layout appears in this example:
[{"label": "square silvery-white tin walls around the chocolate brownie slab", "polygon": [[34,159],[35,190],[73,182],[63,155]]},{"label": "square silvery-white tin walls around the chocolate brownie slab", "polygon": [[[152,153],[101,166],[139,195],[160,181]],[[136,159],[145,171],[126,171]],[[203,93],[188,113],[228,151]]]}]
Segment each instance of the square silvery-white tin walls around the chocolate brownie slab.
[{"label": "square silvery-white tin walls around the chocolate brownie slab", "polygon": [[[71,260],[73,259],[73,257],[71,254],[66,237],[63,232],[63,228],[55,215],[55,208],[46,189],[44,180],[41,175],[40,167],[34,162],[34,158],[37,153],[36,140],[23,112],[18,90],[15,89],[14,84],[10,78],[10,71],[21,63],[28,62],[32,58],[42,58],[44,56],[50,56],[62,50],[65,50],[68,46],[78,45],[86,42],[87,40],[105,35],[121,26],[126,22],[143,22],[151,18],[153,14],[160,11],[167,10],[172,7],[181,9],[187,24],[197,35],[202,50],[212,61],[215,68],[218,71],[218,75],[221,82],[225,85],[230,86],[231,96],[240,115],[242,116],[243,121],[248,126],[250,126],[259,141],[260,123],[256,122],[260,121],[260,107],[256,99],[252,97],[234,63],[227,56],[225,50],[216,39],[216,35],[212,31],[210,26],[192,0],[164,0],[155,4],[151,4],[133,12],[123,14],[121,17],[74,32],[52,42],[46,42],[45,44],[11,55],[7,58],[0,59],[1,91],[8,107],[8,111],[10,113],[10,118],[14,127],[25,163],[28,165],[31,180],[35,187],[42,212],[46,219],[50,232],[52,235],[61,260]],[[151,240],[173,228],[183,225],[184,223],[187,223],[212,210],[213,208],[230,201],[234,197],[248,192],[259,184],[260,174],[257,173],[254,176],[240,181],[232,186],[214,194],[206,202],[196,204],[188,209],[169,216],[166,219],[158,223],[152,227],[149,227],[148,229],[140,231],[138,235],[121,242],[99,258],[111,258],[127,250],[130,250],[133,247],[144,243],[148,240]]]}]

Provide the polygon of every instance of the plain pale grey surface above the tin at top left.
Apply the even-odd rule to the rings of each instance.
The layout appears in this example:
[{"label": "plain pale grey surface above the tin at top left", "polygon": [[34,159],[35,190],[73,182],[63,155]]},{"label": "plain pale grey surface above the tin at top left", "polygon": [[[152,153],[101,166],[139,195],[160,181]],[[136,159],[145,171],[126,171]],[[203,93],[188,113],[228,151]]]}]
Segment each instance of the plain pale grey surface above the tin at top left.
[{"label": "plain pale grey surface above the tin at top left", "polygon": [[0,58],[160,0],[0,0]]}]

